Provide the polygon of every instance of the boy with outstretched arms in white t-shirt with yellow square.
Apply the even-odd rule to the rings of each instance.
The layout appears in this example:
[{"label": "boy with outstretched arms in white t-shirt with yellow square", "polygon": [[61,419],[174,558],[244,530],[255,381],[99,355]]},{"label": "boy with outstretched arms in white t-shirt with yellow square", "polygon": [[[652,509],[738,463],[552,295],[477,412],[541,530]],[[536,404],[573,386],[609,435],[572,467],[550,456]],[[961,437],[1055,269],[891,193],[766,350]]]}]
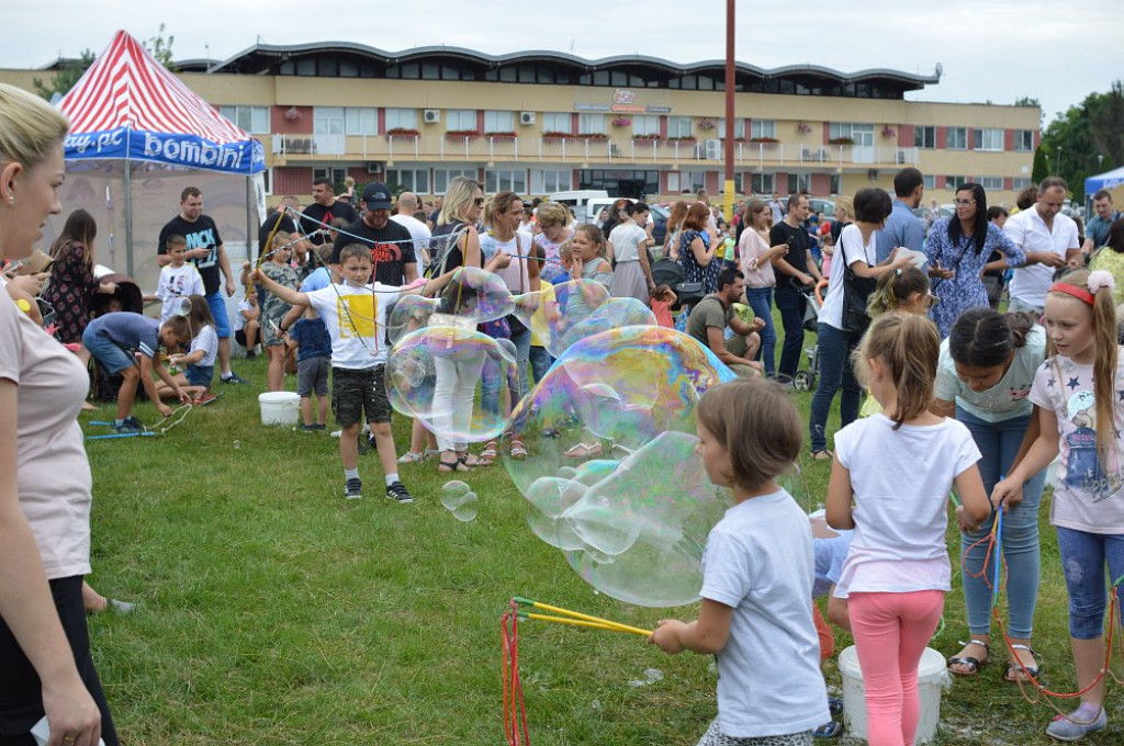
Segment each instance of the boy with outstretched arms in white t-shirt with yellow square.
[{"label": "boy with outstretched arms in white t-shirt with yellow square", "polygon": [[386,364],[390,345],[386,339],[390,306],[418,290],[370,283],[371,252],[361,244],[344,246],[339,253],[343,284],[312,292],[298,292],[278,284],[261,271],[252,281],[262,283],[287,303],[311,307],[324,319],[332,337],[332,406],[342,431],[339,457],[344,463],[344,497],[363,497],[359,477],[360,428],[365,412],[386,473],[387,497],[401,503],[414,502],[398,479],[398,454],[390,433],[390,399],[387,397]]}]

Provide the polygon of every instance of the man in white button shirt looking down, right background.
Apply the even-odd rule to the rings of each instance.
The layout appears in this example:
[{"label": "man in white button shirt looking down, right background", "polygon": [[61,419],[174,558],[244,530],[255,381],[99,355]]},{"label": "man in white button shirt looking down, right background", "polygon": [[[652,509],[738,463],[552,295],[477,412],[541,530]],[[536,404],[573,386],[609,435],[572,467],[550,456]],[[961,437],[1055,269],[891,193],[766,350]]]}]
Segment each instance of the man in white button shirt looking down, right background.
[{"label": "man in white button shirt looking down, right background", "polygon": [[[1039,184],[1039,198],[1034,208],[1016,212],[1004,224],[1003,230],[1007,238],[1022,248],[1023,253],[1055,254],[1072,266],[1078,265],[1081,262],[1081,245],[1078,243],[1077,224],[1061,213],[1067,191],[1066,181],[1060,176],[1043,179]],[[1042,313],[1053,273],[1051,263],[1016,269],[1015,278],[1008,286],[1008,309]]]}]

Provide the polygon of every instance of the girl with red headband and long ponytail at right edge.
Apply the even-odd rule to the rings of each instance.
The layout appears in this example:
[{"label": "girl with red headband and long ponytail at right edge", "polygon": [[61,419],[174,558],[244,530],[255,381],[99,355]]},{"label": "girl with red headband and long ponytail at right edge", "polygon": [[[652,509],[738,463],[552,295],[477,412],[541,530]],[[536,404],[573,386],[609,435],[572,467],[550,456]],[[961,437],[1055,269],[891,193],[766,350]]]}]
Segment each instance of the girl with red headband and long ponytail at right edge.
[{"label": "girl with red headband and long ponytail at right edge", "polygon": [[1108,272],[1085,270],[1050,286],[1049,357],[1035,373],[1030,395],[1037,407],[1040,433],[991,495],[997,506],[1015,504],[1024,484],[1061,454],[1050,521],[1058,530],[1077,686],[1084,692],[1077,710],[1046,728],[1046,735],[1061,740],[1077,740],[1107,725],[1102,707],[1105,684],[1099,679],[1105,657],[1105,564],[1109,579],[1124,574],[1124,370],[1114,288]]}]

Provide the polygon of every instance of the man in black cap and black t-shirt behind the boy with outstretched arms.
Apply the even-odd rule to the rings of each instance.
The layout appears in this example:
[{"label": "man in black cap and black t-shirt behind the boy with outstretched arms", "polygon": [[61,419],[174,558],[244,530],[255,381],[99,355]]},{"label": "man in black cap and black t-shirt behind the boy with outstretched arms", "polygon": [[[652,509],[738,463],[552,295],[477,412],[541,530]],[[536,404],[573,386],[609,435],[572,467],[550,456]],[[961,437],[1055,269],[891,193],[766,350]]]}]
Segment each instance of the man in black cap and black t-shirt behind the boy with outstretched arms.
[{"label": "man in black cap and black t-shirt behind the boy with outstretched arms", "polygon": [[348,244],[371,249],[374,271],[371,278],[384,285],[405,285],[418,279],[410,231],[390,219],[390,191],[386,184],[363,188],[363,217],[339,231],[332,247],[332,264],[339,264],[339,252]]}]

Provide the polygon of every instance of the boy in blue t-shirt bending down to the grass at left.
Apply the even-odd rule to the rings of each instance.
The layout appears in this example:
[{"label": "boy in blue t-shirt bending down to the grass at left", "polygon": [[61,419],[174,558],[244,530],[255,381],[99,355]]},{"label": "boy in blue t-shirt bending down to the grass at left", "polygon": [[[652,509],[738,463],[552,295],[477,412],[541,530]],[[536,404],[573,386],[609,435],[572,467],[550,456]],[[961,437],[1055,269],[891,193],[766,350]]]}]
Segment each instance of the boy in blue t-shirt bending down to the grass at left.
[{"label": "boy in blue t-shirt bending down to the grass at left", "polygon": [[[144,426],[132,416],[133,400],[136,399],[137,382],[144,385],[145,392],[156,410],[164,417],[172,413],[171,407],[160,400],[152,374],[167,385],[175,399],[188,403],[188,393],[172,379],[160,361],[158,349],[163,344],[169,352],[179,352],[191,342],[191,329],[182,316],[173,316],[161,325],[132,311],[106,313],[90,321],[82,334],[82,349],[79,358],[89,363],[92,355],[110,374],[120,374],[125,380],[117,391],[117,419],[114,429],[118,433],[139,433]],[[139,353],[139,364],[133,352]]]}]

